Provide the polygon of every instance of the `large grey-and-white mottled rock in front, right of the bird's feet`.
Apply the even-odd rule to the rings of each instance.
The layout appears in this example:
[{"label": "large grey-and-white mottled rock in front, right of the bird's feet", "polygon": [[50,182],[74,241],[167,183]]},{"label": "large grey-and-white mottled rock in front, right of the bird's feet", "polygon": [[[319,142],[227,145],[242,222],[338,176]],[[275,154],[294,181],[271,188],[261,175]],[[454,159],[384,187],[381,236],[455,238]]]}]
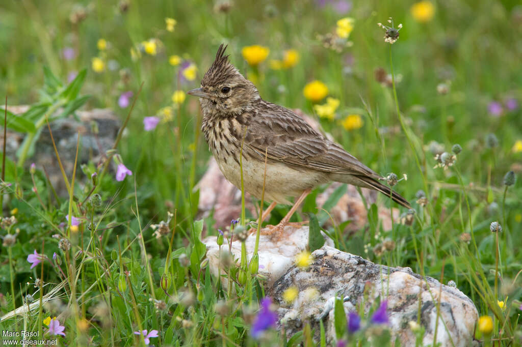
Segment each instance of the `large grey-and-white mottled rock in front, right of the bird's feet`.
[{"label": "large grey-and-white mottled rock in front, right of the bird's feet", "polygon": [[[478,312],[471,300],[458,289],[444,284],[441,286],[440,282],[431,277],[423,279],[410,268],[374,264],[328,245],[312,255],[314,261],[310,267],[300,269],[292,266],[267,291],[267,295],[280,303],[278,313],[288,336],[300,331],[305,320],[312,322],[312,328],[316,328],[317,332],[318,318],[326,317],[327,343],[333,344],[334,312],[327,312],[328,309],[325,312],[325,307],[333,307],[331,298],[335,298],[336,294],[346,298],[344,306],[347,314],[354,311],[356,305],[363,304],[367,317],[372,304],[375,307],[380,296],[381,300],[387,300],[388,303],[388,327],[393,339],[398,337],[404,346],[415,345],[416,337],[408,323],[417,321],[420,297],[420,322],[425,329],[423,345],[433,344],[439,300],[436,342],[442,346],[472,345]],[[294,303],[287,304],[282,294],[290,286],[297,286],[302,294]],[[316,289],[317,297],[313,300],[305,298],[305,293],[312,288]],[[364,301],[363,292],[367,294]]]}]

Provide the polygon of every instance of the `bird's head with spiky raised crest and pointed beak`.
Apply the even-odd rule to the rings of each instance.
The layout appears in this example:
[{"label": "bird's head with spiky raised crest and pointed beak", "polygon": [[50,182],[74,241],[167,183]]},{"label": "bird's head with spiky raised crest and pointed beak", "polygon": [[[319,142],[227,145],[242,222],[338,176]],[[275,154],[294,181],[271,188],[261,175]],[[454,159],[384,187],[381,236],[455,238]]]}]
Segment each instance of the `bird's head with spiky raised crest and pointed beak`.
[{"label": "bird's head with spiky raised crest and pointed beak", "polygon": [[193,89],[189,95],[199,96],[204,113],[219,113],[233,117],[242,114],[248,106],[259,99],[255,85],[230,64],[224,55],[227,46],[221,44],[216,59],[201,80],[201,88]]}]

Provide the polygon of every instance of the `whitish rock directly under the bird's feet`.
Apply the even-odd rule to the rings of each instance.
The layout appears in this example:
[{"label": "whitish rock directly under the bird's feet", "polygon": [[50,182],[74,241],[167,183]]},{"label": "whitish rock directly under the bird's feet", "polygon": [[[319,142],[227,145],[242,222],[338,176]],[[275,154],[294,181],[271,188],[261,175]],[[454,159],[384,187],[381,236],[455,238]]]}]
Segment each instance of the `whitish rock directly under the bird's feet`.
[{"label": "whitish rock directly under the bird's feet", "polygon": [[[269,228],[262,229],[268,232]],[[295,257],[306,249],[308,245],[308,227],[296,228],[295,224],[290,224],[284,228],[284,233],[280,238],[261,235],[259,237],[259,274],[267,277],[267,288],[283,276],[289,268],[295,263]],[[254,245],[256,234],[252,233],[245,241],[247,259],[250,262],[254,253]],[[207,246],[207,258],[209,260],[210,271],[214,276],[218,276],[220,259],[219,246],[216,243],[216,237],[210,236],[203,243]],[[326,243],[333,246],[334,243],[329,238]],[[229,245],[225,239],[221,246],[222,252],[228,252]],[[241,259],[241,242],[232,241],[231,252],[234,259]],[[227,285],[227,279],[221,278],[224,286]]]}]

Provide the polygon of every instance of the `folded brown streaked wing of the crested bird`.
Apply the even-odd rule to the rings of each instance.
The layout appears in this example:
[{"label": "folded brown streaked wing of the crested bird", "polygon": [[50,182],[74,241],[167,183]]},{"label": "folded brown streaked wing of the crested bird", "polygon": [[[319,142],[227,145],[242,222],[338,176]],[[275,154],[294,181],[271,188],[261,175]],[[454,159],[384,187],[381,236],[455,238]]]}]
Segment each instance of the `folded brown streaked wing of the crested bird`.
[{"label": "folded brown streaked wing of the crested bird", "polygon": [[268,159],[325,172],[381,178],[372,169],[315,131],[303,118],[282,106],[264,103],[248,117],[244,146]]}]

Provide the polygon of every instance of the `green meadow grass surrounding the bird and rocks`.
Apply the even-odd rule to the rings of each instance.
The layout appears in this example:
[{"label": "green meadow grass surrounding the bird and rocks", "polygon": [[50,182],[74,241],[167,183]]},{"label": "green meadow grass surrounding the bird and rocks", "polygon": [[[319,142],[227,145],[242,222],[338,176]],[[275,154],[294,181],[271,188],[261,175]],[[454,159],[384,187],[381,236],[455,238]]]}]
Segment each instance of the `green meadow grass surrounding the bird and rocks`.
[{"label": "green meadow grass surrounding the bird and rocks", "polygon": [[[159,336],[150,339],[156,345],[258,342],[250,332],[264,296],[262,280],[246,259],[241,268],[223,263],[228,266],[222,273],[236,279],[235,291],[210,275],[200,240],[202,234],[218,231],[212,214],[198,217],[199,193],[193,190],[210,153],[200,136],[196,98],[187,96],[179,104],[171,99],[174,91],[199,85],[217,47],[225,42],[232,63],[255,81],[265,100],[313,115],[324,131],[376,172],[407,175],[394,190],[412,202],[412,224],[395,223],[385,232],[375,207],[368,206],[365,228],[352,234],[343,234],[338,226],[327,230],[336,235],[339,249],[384,265],[409,266],[444,283],[454,281],[480,316],[492,318],[491,333],[477,329],[477,339],[520,344],[522,241],[517,234],[522,227],[522,185],[520,180],[509,187],[503,184],[506,172],[514,170],[519,176],[522,171],[522,151],[515,146],[522,140],[522,10],[516,2],[437,3],[433,18],[425,23],[412,16],[411,4],[396,2],[354,3],[346,15],[314,1],[236,1],[228,12],[218,5],[25,0],[0,6],[0,45],[5,48],[0,95],[7,96],[9,105],[33,105],[34,111],[26,115],[27,121],[8,114],[8,131],[35,139],[38,129],[47,128],[46,120],[66,117],[79,107],[111,108],[124,125],[101,167],[91,161],[77,163],[85,165],[75,172],[63,172],[69,195],[58,200],[43,169],[29,168],[31,141],[18,157],[4,159],[2,179],[11,185],[2,185],[0,198],[0,310],[6,315],[32,306],[30,314],[0,321],[2,329],[39,331],[40,337],[55,338],[44,319],[57,316],[65,326],[65,337],[57,337],[62,344],[143,344],[134,331],[144,329],[158,330]],[[82,14],[85,19],[72,22]],[[325,48],[325,35],[335,32],[336,21],[346,16],[355,19],[350,44],[341,52]],[[166,30],[165,17],[177,20],[173,32]],[[404,25],[391,46],[376,25],[388,17]],[[105,49],[98,48],[99,39],[108,42]],[[156,40],[155,55],[140,51],[141,43],[151,39]],[[242,47],[252,44],[270,49],[267,60],[255,68],[241,55]],[[70,60],[63,57],[66,47],[75,52]],[[139,57],[133,58],[131,48]],[[271,69],[269,60],[282,59],[289,48],[299,52],[298,63]],[[169,64],[171,55],[196,65],[193,80],[184,78],[184,65]],[[102,59],[102,72],[93,70],[94,57]],[[377,82],[378,68],[391,73],[391,81]],[[80,78],[65,83],[73,72]],[[318,117],[303,96],[304,85],[315,79],[340,102],[334,120]],[[447,87],[447,93],[437,92],[437,86],[441,91]],[[118,97],[126,91],[134,93],[132,106],[121,108]],[[512,110],[506,105],[511,99],[518,102]],[[491,102],[501,104],[500,116],[491,113]],[[67,112],[56,113],[58,109]],[[361,128],[340,126],[350,114],[362,117]],[[144,131],[146,116],[161,117],[160,126]],[[434,168],[437,148],[452,153],[454,144],[462,147],[454,165]],[[120,158],[133,175],[116,181],[113,168]],[[91,180],[93,172],[97,181]],[[425,193],[425,206],[416,203],[419,190]],[[312,197],[305,209],[324,221],[326,215],[319,213]],[[389,206],[389,199],[379,199]],[[276,224],[287,210],[276,207],[268,222]],[[173,217],[161,229],[168,212]],[[67,214],[82,223],[72,226]],[[9,225],[11,215],[16,222]],[[254,219],[246,211],[241,222]],[[490,231],[494,221],[502,232]],[[153,236],[151,225],[163,230],[160,238]],[[16,235],[9,245],[8,234],[7,239]],[[58,248],[62,238],[70,242],[70,250]],[[395,249],[373,252],[386,238],[395,241]],[[223,248],[227,245],[225,239]],[[27,256],[34,250],[48,260],[30,269]],[[41,281],[34,286],[37,278]],[[32,295],[32,303],[27,295]],[[503,307],[497,301],[503,301]],[[269,330],[261,343],[309,345],[311,334],[306,325],[293,338]]]}]

